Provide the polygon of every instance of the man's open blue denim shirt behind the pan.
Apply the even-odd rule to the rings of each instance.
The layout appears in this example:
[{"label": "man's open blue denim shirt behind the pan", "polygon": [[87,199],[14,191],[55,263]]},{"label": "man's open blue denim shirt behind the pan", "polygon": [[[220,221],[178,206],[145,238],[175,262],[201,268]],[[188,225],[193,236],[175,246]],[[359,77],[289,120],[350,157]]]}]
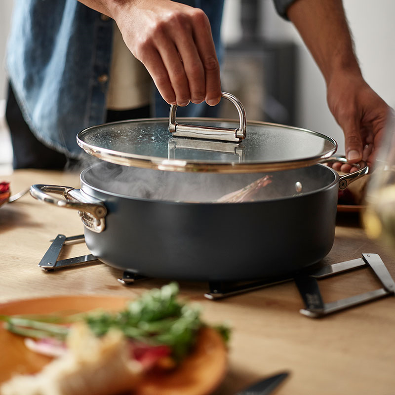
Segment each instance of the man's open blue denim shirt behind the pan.
[{"label": "man's open blue denim shirt behind the pan", "polygon": [[[276,0],[285,7],[293,0]],[[220,58],[224,0],[184,0],[208,16]],[[277,11],[281,9],[277,7]],[[113,20],[77,0],[15,0],[6,68],[23,116],[47,146],[78,158],[77,133],[105,121]],[[212,116],[215,108],[190,104],[177,116]],[[169,105],[155,93],[155,116]]]}]

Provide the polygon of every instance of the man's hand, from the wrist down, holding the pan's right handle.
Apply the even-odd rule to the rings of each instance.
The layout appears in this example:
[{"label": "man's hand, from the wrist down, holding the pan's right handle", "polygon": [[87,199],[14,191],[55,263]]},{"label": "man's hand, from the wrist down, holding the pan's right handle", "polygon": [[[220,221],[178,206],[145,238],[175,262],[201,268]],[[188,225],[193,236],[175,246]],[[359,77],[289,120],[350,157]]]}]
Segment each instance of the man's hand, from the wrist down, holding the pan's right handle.
[{"label": "man's hand, from the wrist down, holding the pan's right handle", "polygon": [[[372,165],[390,107],[365,82],[359,73],[334,74],[327,83],[329,109],[343,129],[346,157],[351,163],[363,159]],[[335,170],[356,170],[335,163]]]}]

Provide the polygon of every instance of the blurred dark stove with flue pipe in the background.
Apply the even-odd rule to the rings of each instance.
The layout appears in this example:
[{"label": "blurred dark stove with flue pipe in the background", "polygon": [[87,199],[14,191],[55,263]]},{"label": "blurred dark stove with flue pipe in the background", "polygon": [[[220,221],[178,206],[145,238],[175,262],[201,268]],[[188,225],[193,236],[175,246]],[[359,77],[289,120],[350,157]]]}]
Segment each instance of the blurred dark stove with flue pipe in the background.
[{"label": "blurred dark stove with flue pipe in the background", "polygon": [[[221,81],[247,110],[247,118],[295,125],[298,51],[292,40],[271,40],[260,32],[265,23],[262,1],[241,0],[242,37],[224,48]],[[220,118],[234,118],[225,100]]]}]

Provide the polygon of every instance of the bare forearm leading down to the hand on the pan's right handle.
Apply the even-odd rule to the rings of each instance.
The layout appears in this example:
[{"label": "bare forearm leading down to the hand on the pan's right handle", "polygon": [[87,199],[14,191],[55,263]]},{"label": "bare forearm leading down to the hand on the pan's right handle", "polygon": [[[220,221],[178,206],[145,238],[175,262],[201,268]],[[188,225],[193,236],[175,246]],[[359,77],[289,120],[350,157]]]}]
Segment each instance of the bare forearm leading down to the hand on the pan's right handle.
[{"label": "bare forearm leading down to the hand on the pan's right handle", "polygon": [[327,84],[337,72],[360,75],[341,0],[297,0],[288,8],[287,15]]}]

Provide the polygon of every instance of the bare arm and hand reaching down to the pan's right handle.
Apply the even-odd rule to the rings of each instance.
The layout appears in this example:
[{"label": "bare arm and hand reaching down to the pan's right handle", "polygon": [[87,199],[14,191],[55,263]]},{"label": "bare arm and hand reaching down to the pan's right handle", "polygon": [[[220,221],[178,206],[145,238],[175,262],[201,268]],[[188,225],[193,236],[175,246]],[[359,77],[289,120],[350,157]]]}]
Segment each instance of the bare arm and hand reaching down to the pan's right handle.
[{"label": "bare arm and hand reaching down to the pan's right handle", "polygon": [[[362,78],[342,0],[297,0],[287,15],[325,79],[329,109],[344,132],[347,159],[371,165],[389,107]],[[356,170],[341,163],[333,168]]]}]

